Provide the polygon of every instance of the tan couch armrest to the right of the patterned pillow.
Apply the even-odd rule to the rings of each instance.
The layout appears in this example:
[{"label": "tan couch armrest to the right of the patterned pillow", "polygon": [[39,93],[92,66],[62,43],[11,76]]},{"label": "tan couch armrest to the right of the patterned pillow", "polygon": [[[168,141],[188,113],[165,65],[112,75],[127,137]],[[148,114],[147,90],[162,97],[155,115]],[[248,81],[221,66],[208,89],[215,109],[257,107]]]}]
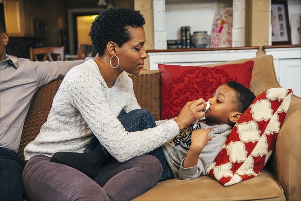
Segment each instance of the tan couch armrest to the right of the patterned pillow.
[{"label": "tan couch armrest to the right of the patterned pillow", "polygon": [[284,189],[287,200],[301,200],[301,99],[292,96],[286,118],[269,160],[269,168]]}]

